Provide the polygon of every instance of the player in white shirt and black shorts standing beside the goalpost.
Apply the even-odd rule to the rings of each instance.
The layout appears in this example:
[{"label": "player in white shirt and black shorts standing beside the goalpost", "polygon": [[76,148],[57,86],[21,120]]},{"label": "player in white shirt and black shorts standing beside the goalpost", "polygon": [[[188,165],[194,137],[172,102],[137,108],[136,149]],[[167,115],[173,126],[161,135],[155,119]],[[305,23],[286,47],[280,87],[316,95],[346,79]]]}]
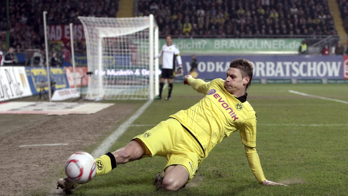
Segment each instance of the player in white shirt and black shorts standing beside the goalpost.
[{"label": "player in white shirt and black shorts standing beside the goalpost", "polygon": [[173,78],[175,77],[175,59],[182,70],[182,61],[180,51],[176,45],[172,44],[172,36],[166,36],[166,44],[162,46],[161,52],[155,56],[159,58],[163,56],[162,74],[159,79],[159,95],[155,99],[162,99],[162,90],[165,79],[168,80],[168,96],[166,100],[171,100],[173,89]]}]

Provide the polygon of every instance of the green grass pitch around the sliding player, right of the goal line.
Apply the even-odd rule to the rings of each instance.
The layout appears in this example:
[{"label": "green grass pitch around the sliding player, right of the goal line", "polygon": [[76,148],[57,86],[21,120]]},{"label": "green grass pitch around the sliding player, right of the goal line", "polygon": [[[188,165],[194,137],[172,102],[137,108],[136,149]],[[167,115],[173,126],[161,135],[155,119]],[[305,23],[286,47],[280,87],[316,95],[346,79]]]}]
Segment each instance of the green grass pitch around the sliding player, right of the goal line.
[{"label": "green grass pitch around the sliding player, right of the goal line", "polygon": [[[239,133],[234,133],[216,145],[182,190],[156,190],[152,179],[163,170],[165,159],[152,157],[119,165],[78,186],[73,195],[347,195],[347,89],[346,84],[251,85],[248,102],[258,115],[256,150],[264,175],[286,187],[258,183]],[[110,151],[202,97],[190,86],[174,84],[172,100],[155,100]]]}]

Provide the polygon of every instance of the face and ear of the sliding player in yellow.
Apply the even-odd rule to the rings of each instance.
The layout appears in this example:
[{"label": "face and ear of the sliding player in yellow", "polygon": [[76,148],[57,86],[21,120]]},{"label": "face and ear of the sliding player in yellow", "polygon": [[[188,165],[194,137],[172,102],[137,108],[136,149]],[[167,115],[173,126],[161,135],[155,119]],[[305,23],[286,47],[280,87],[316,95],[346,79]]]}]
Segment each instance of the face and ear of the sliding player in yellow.
[{"label": "face and ear of the sliding player in yellow", "polygon": [[237,68],[228,68],[226,72],[225,88],[227,92],[235,96],[242,96],[245,93],[246,84],[250,77],[242,77],[242,72]]}]

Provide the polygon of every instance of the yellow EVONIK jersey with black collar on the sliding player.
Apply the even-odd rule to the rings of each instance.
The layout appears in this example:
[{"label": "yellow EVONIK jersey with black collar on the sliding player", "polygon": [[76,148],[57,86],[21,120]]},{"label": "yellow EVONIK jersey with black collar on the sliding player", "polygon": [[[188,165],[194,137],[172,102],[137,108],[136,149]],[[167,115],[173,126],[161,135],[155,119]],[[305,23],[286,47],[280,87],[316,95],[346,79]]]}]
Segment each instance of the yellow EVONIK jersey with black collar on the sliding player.
[{"label": "yellow EVONIK jersey with black collar on the sliding player", "polygon": [[223,79],[205,82],[188,79],[189,84],[205,97],[187,110],[181,110],[169,118],[177,119],[198,141],[208,156],[214,146],[231,133],[238,131],[242,143],[256,146],[256,113],[246,101],[247,94],[236,97],[224,88]]}]

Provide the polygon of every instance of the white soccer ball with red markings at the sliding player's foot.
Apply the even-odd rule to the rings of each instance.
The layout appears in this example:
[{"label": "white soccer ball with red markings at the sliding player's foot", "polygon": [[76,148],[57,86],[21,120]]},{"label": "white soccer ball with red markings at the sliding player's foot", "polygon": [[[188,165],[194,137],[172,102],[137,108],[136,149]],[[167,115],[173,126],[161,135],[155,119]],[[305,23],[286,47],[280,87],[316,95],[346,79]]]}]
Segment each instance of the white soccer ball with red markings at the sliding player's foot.
[{"label": "white soccer ball with red markings at the sliding player's foot", "polygon": [[76,152],[66,160],[66,176],[74,183],[87,183],[95,177],[96,172],[94,158],[87,152]]}]

